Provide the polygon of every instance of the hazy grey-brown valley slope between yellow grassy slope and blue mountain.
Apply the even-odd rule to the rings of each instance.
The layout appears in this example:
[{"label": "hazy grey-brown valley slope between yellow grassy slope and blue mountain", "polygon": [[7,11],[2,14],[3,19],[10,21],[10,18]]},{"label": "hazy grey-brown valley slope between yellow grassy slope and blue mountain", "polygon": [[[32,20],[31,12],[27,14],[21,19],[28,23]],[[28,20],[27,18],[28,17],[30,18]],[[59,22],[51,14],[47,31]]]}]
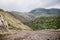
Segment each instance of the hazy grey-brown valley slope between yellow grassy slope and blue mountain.
[{"label": "hazy grey-brown valley slope between yellow grassy slope and blue mountain", "polygon": [[21,20],[21,22],[23,22],[24,24],[27,24],[34,17],[33,14],[28,13],[28,12],[16,12],[16,11],[13,11],[13,12],[10,12],[10,14],[12,14],[13,16],[15,16],[19,20]]}]

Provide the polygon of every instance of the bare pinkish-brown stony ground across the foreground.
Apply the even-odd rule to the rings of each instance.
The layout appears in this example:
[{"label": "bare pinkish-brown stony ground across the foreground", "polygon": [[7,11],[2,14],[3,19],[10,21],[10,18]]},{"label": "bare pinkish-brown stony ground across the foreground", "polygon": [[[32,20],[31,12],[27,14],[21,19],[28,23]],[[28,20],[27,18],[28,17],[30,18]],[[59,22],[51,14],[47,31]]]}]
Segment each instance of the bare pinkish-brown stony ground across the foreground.
[{"label": "bare pinkish-brown stony ground across the foreground", "polygon": [[0,40],[60,40],[60,31],[15,31],[0,35]]}]

